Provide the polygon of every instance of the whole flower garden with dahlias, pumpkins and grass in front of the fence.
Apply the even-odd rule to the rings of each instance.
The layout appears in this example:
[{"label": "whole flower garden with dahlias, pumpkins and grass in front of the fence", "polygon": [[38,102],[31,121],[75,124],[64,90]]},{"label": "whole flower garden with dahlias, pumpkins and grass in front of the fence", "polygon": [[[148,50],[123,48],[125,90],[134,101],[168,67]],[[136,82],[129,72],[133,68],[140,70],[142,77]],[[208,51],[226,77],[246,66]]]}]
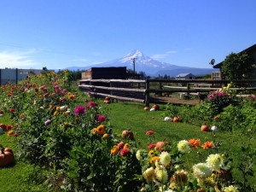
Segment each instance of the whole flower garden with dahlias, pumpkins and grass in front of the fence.
[{"label": "whole flower garden with dahlias, pumpkins and grass in front of the fence", "polygon": [[[196,106],[137,105],[141,120],[120,122],[125,108],[114,113],[116,101],[79,91],[68,71],[3,85],[0,138],[15,147],[0,140],[0,169],[29,163],[45,191],[256,191],[256,99],[236,97],[230,86]],[[176,136],[154,130],[161,125]]]}]

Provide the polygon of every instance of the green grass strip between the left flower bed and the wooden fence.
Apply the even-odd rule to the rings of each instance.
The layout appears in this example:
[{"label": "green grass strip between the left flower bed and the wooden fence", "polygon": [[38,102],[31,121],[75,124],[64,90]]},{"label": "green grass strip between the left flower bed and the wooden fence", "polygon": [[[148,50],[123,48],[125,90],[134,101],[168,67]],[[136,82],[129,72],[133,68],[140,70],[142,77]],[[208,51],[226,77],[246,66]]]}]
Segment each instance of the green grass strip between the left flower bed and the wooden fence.
[{"label": "green grass strip between the left flower bed and the wooden fence", "polygon": [[[191,150],[184,161],[187,166],[192,166],[193,163],[205,161],[209,154],[226,154],[233,161],[233,166],[238,166],[243,161],[241,147],[247,143],[247,137],[236,132],[204,132],[201,127],[188,125],[184,123],[173,123],[164,121],[165,105],[160,105],[160,111],[145,111],[143,104],[131,102],[119,102],[108,105],[109,119],[114,126],[114,131],[121,134],[123,130],[131,129],[134,132],[135,139],[139,148],[147,148],[149,143],[157,141],[167,141],[171,144],[177,144],[180,140],[189,140],[196,138],[201,140],[201,144],[212,141],[214,137],[215,144],[219,145],[218,149],[211,150]],[[146,131],[154,131],[153,136],[146,135]],[[253,140],[255,143],[255,137]],[[200,155],[199,155],[200,153]],[[256,171],[256,166],[253,167],[253,172]],[[235,179],[241,179],[241,172],[238,169],[233,170]],[[256,183],[255,177],[250,177],[250,183]]]}]

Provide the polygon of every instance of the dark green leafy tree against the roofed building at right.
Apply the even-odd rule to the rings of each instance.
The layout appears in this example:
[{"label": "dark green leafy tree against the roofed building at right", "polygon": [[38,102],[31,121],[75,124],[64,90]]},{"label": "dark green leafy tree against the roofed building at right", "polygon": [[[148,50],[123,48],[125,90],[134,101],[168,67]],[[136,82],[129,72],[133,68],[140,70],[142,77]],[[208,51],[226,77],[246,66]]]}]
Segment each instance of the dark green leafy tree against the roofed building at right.
[{"label": "dark green leafy tree against the roofed building at right", "polygon": [[255,61],[246,52],[227,55],[222,64],[222,73],[225,79],[249,79],[253,75]]}]

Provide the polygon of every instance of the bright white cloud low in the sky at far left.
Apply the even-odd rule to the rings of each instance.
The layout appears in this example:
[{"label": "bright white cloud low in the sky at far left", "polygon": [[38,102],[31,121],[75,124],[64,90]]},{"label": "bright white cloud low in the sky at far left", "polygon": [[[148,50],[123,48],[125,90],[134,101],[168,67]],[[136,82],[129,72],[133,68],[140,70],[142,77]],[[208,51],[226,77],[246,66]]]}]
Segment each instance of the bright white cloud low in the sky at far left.
[{"label": "bright white cloud low in the sky at far left", "polygon": [[33,67],[38,62],[32,60],[35,49],[27,51],[0,51],[0,67],[21,68]]}]

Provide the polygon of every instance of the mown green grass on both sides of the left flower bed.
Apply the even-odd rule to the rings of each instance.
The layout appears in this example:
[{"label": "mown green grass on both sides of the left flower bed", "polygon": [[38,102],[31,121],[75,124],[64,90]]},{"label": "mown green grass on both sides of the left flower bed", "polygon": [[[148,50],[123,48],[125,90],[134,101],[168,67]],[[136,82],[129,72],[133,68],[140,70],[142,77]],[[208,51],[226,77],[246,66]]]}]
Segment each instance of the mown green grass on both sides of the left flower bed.
[{"label": "mown green grass on both sides of the left flower bed", "polygon": [[[98,101],[101,102],[102,101]],[[143,110],[143,104],[133,102],[113,102],[109,105],[103,105],[106,115],[109,118],[110,124],[113,125],[114,132],[121,135],[123,130],[131,129],[134,132],[135,140],[138,148],[147,148],[149,143],[157,141],[167,141],[171,144],[177,143],[180,140],[189,140],[190,138],[201,139],[201,143],[212,141],[212,133],[202,132],[200,127],[195,125],[187,125],[183,123],[173,123],[164,121],[164,105],[160,105],[160,111],[149,112]],[[8,116],[0,119],[0,123],[10,124]],[[146,135],[146,131],[154,131],[154,135]],[[216,141],[221,143],[219,151],[215,153],[227,153],[230,156],[237,157],[235,163],[239,162],[241,157],[240,147],[243,136],[234,135],[231,133],[216,132]],[[7,137],[4,133],[0,136],[0,143],[4,147],[13,148],[15,151],[15,137]],[[210,154],[214,151],[203,151],[203,154]],[[201,157],[196,151],[187,156],[189,165]],[[204,156],[202,160],[206,160]],[[255,168],[255,167],[254,167]],[[34,168],[20,160],[16,161],[14,166],[0,169],[0,191],[49,191],[42,185],[34,183]],[[255,169],[254,169],[255,171]],[[235,177],[241,177],[236,172]],[[253,178],[254,179],[254,178]],[[252,181],[252,183],[256,183]]]}]

